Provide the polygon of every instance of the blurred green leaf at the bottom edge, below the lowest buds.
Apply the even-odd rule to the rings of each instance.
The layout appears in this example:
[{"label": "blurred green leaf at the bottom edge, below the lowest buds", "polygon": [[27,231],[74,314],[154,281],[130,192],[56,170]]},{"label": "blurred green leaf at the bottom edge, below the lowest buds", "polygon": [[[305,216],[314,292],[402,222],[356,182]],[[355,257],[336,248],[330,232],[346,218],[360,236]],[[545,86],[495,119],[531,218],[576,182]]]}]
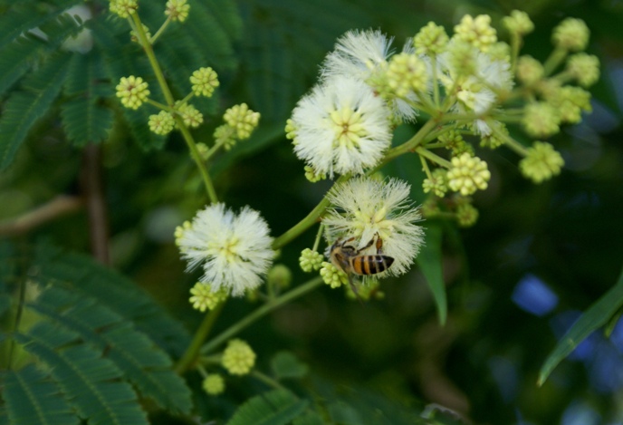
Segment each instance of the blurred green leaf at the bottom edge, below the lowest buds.
[{"label": "blurred green leaf at the bottom edge, below the lowest buds", "polygon": [[235,411],[227,425],[281,425],[290,423],[307,408],[309,401],[298,399],[292,392],[264,392],[246,401]]}]

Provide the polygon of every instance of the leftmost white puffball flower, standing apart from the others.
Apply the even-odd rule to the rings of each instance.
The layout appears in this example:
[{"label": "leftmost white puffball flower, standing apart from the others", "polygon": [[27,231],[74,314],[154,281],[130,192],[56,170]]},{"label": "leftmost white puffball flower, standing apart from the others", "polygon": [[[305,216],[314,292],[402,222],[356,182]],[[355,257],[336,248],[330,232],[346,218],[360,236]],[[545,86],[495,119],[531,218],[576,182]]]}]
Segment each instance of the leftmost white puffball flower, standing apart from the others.
[{"label": "leftmost white puffball flower, standing apart from the others", "polygon": [[273,238],[264,218],[249,207],[239,214],[225,204],[210,205],[196,213],[189,227],[181,230],[177,246],[188,270],[203,265],[202,282],[212,291],[224,288],[240,296],[262,283],[273,263]]}]

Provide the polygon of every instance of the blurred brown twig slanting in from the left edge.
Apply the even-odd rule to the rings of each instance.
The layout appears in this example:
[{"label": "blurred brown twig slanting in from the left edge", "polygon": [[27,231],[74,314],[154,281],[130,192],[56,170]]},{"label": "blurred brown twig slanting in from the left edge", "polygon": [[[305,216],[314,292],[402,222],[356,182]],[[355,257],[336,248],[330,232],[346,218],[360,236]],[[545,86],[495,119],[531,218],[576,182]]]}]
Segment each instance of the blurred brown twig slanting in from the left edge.
[{"label": "blurred brown twig slanting in from the left edge", "polygon": [[0,222],[0,236],[13,237],[22,235],[35,227],[39,227],[54,218],[71,214],[82,208],[81,198],[68,195],[59,195],[40,207],[26,212],[20,217],[10,218]]}]

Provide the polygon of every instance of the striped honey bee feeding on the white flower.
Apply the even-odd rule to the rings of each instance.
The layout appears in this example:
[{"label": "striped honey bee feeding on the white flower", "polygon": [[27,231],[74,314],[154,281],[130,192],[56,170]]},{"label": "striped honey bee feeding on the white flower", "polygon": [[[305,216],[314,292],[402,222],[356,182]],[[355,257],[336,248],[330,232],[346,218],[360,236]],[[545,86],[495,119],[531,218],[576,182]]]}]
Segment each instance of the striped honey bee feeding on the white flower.
[{"label": "striped honey bee feeding on the white flower", "polygon": [[[366,249],[368,249],[372,244],[374,244],[374,239],[376,238],[376,254],[361,254]],[[331,263],[333,266],[336,266],[342,272],[346,273],[349,276],[350,285],[352,282],[350,280],[351,275],[377,275],[382,273],[394,263],[394,257],[392,256],[384,256],[382,247],[383,240],[379,237],[377,233],[375,237],[372,237],[366,246],[363,246],[357,249],[355,246],[350,245],[350,243],[355,240],[355,237],[350,237],[345,240],[338,239],[331,246]],[[354,290],[354,286],[353,286]]]}]

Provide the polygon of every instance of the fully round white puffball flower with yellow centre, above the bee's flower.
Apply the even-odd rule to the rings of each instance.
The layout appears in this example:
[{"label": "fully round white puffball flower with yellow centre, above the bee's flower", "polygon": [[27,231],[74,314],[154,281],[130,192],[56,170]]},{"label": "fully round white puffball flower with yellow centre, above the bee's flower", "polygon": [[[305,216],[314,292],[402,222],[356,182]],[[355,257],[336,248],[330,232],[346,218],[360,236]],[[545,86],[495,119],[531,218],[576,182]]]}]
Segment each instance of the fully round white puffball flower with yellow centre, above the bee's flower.
[{"label": "fully round white puffball flower with yellow centre, above the bee's flower", "polygon": [[292,111],[294,153],[317,174],[361,174],[391,144],[386,103],[360,80],[333,77]]}]

